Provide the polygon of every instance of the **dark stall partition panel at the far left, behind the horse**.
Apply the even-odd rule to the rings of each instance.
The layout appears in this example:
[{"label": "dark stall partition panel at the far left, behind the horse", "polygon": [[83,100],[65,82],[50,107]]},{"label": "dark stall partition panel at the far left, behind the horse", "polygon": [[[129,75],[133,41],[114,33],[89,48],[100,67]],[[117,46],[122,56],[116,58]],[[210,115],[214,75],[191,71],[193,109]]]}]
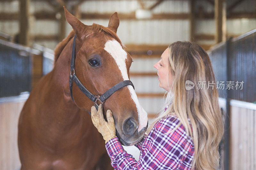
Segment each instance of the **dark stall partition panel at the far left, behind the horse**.
[{"label": "dark stall partition panel at the far left, behind the horse", "polygon": [[31,90],[30,48],[0,40],[0,97]]}]

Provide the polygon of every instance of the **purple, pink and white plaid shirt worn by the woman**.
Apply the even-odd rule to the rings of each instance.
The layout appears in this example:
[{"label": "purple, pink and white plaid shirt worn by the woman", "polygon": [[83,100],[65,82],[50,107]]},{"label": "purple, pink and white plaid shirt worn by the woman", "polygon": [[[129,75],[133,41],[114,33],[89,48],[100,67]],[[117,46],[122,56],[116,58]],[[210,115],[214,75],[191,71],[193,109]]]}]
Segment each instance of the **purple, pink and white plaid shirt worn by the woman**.
[{"label": "purple, pink and white plaid shirt worn by the woman", "polygon": [[180,120],[176,116],[160,119],[148,136],[144,136],[139,143],[135,144],[140,149],[138,162],[132,155],[124,151],[118,138],[109,140],[105,146],[111,159],[111,165],[120,170],[191,169],[194,158],[194,144],[191,137],[186,137],[183,125],[170,133],[179,122]]}]

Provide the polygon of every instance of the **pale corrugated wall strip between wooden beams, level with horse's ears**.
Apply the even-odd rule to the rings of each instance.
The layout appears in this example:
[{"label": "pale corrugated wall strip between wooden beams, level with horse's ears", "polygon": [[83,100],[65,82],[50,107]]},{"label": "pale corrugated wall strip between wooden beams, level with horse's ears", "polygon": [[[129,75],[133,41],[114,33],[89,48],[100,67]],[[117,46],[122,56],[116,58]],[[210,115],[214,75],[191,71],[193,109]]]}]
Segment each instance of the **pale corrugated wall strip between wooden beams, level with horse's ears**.
[{"label": "pale corrugated wall strip between wooden beams, level with horse's ears", "polygon": [[[83,19],[85,25],[108,26],[107,19]],[[67,25],[67,35],[72,30]],[[189,40],[188,20],[121,20],[117,35],[124,44],[170,44]]]}]

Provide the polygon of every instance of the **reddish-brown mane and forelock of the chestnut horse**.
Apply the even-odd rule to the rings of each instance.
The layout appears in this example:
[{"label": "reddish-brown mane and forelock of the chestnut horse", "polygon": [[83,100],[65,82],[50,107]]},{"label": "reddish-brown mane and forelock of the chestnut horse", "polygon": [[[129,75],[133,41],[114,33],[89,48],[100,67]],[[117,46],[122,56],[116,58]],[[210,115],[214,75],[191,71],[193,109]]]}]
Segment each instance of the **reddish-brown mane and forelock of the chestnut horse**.
[{"label": "reddish-brown mane and forelock of the chestnut horse", "polygon": [[[111,35],[112,37],[114,37],[116,39],[116,41],[118,43],[120,43],[122,45],[122,47],[124,48],[124,44],[121,42],[121,40],[118,38],[118,36],[116,35],[116,32],[113,31],[111,28],[108,28],[108,27],[104,27],[102,25],[99,25],[99,24],[95,24],[93,23],[92,24],[92,30],[93,32],[96,34],[96,33],[99,33],[99,32],[104,32],[106,34],[109,34]],[[70,41],[71,38],[73,38],[75,36],[75,31],[72,30],[69,35],[64,38],[55,48],[54,50],[54,64],[56,63],[57,59],[59,58],[60,56],[60,53],[61,51],[64,49],[64,47],[67,45],[67,43]]]}]

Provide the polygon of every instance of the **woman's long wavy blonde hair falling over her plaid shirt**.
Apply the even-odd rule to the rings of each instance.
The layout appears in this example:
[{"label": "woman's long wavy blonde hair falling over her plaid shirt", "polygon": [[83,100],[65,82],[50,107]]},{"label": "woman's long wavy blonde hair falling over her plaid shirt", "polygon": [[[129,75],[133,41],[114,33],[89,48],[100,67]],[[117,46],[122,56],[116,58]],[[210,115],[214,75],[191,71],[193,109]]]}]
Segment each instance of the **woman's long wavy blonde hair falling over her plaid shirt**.
[{"label": "woman's long wavy blonde hair falling over her plaid shirt", "polygon": [[[192,168],[216,169],[220,161],[218,149],[224,133],[224,119],[218,102],[212,63],[206,51],[196,43],[178,41],[170,44],[168,48],[169,67],[173,76],[170,85],[172,90],[167,93],[164,107],[147,129],[147,134],[158,120],[175,114],[180,124],[184,126],[187,137],[190,135],[194,143]],[[186,90],[187,80],[195,84],[193,89]],[[205,88],[197,89],[197,82],[206,82]],[[208,88],[209,82],[213,88],[212,86]],[[167,105],[169,107],[164,112]]]}]

